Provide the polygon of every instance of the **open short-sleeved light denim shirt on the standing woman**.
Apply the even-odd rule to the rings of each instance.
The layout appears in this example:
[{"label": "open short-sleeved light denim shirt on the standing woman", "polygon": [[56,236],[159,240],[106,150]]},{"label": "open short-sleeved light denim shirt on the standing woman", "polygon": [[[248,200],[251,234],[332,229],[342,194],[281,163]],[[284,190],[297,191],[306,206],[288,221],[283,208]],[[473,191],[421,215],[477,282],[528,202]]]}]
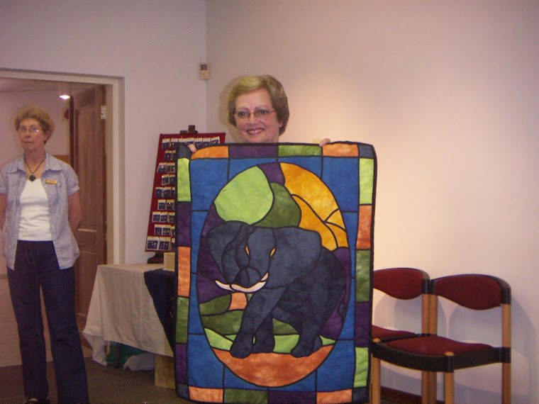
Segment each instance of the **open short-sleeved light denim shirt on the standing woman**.
[{"label": "open short-sleeved light denim shirt on the standing woman", "polygon": [[[65,162],[46,153],[45,167],[39,179],[47,193],[50,232],[60,269],[70,268],[79,257],[77,240],[69,222],[67,197],[79,191],[79,179]],[[2,229],[4,258],[9,268],[15,266],[18,230],[21,221],[21,193],[26,185],[23,156],[9,162],[0,171],[0,193],[7,196],[6,221]]]}]

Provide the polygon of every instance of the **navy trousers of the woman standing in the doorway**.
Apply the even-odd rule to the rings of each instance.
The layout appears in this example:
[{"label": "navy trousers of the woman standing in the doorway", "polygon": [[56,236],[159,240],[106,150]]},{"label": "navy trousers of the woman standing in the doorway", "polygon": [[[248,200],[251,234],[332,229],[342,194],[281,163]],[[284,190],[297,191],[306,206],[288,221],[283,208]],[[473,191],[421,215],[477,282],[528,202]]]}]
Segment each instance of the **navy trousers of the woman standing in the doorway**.
[{"label": "navy trousers of the woman standing in the doorway", "polygon": [[56,371],[58,401],[88,401],[84,357],[75,317],[73,267],[60,269],[52,241],[17,242],[15,266],[8,268],[9,291],[18,326],[26,397],[49,393],[40,288]]}]

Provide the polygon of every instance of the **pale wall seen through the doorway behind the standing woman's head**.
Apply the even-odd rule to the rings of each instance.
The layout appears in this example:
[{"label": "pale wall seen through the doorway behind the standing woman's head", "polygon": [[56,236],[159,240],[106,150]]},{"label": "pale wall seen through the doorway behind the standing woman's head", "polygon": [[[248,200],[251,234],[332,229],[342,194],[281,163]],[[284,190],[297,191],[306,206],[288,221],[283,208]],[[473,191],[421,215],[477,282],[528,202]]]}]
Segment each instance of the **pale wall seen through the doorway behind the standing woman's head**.
[{"label": "pale wall seen through the doorway behind the standing woman's head", "polygon": [[[0,92],[0,167],[20,156],[21,143],[13,126],[17,111],[29,105],[36,104],[45,108],[55,121],[55,131],[47,142],[47,150],[52,155],[70,154],[69,120],[63,118],[62,108],[67,108],[67,101],[58,97],[57,91],[18,91],[17,93]],[[0,251],[2,240],[0,238]],[[6,274],[6,261],[0,255],[0,275]]]}]

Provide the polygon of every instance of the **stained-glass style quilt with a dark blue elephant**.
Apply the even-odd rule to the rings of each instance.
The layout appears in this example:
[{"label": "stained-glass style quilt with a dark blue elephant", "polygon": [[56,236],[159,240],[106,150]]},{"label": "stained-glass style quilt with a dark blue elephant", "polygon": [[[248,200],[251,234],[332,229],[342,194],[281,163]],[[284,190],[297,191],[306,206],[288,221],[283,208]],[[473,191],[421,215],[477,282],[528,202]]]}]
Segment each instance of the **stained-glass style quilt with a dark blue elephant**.
[{"label": "stained-glass style quilt with a dark blue elephant", "polygon": [[230,144],[177,160],[177,395],[369,401],[371,145]]}]

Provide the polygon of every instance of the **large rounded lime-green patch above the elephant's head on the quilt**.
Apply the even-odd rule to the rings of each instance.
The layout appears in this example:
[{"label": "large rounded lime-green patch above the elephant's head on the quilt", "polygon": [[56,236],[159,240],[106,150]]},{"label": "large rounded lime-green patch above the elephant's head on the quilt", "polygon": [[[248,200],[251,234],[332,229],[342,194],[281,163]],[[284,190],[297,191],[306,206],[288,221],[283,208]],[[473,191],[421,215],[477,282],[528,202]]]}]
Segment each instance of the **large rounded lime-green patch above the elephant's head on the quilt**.
[{"label": "large rounded lime-green patch above the elephant's head on the quilt", "polygon": [[223,186],[215,199],[217,213],[223,220],[239,220],[249,225],[264,218],[272,204],[272,189],[258,167],[240,172]]}]

